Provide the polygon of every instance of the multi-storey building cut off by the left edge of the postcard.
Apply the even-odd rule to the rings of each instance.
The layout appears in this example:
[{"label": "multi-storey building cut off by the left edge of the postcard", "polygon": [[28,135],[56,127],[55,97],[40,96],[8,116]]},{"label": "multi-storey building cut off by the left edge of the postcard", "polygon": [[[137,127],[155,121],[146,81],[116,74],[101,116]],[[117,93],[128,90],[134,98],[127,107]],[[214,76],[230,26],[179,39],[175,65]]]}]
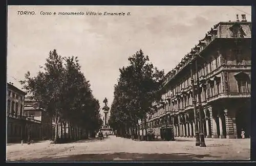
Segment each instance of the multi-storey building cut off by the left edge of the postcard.
[{"label": "multi-storey building cut off by the left edge of the postcard", "polygon": [[7,83],[7,143],[27,140],[32,131],[36,133],[40,128],[40,121],[24,116],[25,95],[13,83]]}]

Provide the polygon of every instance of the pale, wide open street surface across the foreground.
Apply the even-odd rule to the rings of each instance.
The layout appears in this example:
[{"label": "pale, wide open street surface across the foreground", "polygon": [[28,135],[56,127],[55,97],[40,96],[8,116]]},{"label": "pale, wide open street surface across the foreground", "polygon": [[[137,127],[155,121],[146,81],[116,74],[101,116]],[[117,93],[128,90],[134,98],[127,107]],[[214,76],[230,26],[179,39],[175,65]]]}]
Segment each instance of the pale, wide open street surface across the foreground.
[{"label": "pale, wide open street surface across the foreground", "polygon": [[7,145],[7,161],[92,161],[92,160],[248,160],[250,139],[210,139],[207,147],[196,147],[195,138],[175,141],[135,141],[110,136],[69,144]]}]

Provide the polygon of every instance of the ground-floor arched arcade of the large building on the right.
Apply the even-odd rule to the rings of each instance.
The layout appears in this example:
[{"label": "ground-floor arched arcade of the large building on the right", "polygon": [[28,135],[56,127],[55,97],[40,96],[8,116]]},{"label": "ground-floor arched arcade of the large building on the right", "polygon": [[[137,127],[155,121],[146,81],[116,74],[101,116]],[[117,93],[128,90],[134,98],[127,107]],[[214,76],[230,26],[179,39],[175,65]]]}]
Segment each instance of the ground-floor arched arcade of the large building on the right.
[{"label": "ground-floor arched arcade of the large building on the right", "polygon": [[[227,99],[203,103],[201,117],[203,134],[207,138],[241,138],[242,130],[245,132],[245,138],[251,135],[249,99]],[[199,118],[198,123],[195,124],[193,106],[148,122],[148,128],[153,130],[156,136],[160,136],[161,128],[166,125],[173,126],[176,137],[195,137],[196,125],[200,129]]]}]

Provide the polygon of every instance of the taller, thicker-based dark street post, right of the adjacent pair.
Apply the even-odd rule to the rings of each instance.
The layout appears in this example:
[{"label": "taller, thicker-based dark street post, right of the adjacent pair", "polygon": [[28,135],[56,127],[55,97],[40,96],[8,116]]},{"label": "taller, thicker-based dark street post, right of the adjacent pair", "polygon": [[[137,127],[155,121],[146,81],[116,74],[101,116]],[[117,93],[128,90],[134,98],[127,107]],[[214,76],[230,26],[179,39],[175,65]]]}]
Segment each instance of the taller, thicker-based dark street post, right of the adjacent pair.
[{"label": "taller, thicker-based dark street post, right of the adjacent pair", "polygon": [[204,142],[203,121],[202,121],[202,115],[201,115],[203,108],[202,108],[202,103],[201,103],[201,92],[200,92],[200,87],[199,87],[197,59],[196,59],[196,72],[197,72],[197,95],[198,95],[199,127],[200,127],[200,147],[206,147],[205,142]]}]

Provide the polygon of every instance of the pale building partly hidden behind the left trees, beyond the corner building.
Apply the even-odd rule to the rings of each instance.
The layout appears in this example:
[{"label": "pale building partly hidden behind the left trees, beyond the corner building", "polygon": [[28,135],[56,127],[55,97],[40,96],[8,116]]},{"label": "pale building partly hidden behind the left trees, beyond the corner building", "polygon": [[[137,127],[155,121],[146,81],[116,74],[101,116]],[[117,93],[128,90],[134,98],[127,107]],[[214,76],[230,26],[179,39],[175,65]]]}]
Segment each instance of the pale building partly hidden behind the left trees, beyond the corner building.
[{"label": "pale building partly hidden behind the left trees, beyond the corner building", "polygon": [[[41,126],[38,129],[38,134],[35,134],[37,139],[51,139],[53,135],[52,118],[44,110],[36,106],[35,100],[31,97],[25,98],[24,114],[33,120],[39,121]],[[36,130],[35,130],[36,131]],[[36,132],[37,133],[37,132]]]}]

